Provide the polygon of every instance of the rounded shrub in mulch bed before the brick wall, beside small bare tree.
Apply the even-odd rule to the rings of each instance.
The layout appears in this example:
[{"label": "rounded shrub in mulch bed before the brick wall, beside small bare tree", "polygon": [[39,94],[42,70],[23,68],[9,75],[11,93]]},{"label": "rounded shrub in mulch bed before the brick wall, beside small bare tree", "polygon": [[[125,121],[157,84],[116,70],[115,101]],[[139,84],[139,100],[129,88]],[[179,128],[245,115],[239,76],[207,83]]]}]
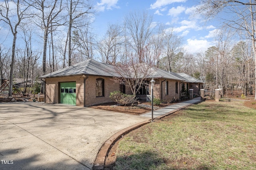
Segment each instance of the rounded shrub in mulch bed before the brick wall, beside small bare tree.
[{"label": "rounded shrub in mulch bed before the brick wall, beside small bare tree", "polygon": [[110,93],[110,99],[112,99],[114,102],[126,106],[127,104],[133,105],[134,102],[137,102],[136,95],[127,95],[123,94],[120,91],[114,91]]}]

